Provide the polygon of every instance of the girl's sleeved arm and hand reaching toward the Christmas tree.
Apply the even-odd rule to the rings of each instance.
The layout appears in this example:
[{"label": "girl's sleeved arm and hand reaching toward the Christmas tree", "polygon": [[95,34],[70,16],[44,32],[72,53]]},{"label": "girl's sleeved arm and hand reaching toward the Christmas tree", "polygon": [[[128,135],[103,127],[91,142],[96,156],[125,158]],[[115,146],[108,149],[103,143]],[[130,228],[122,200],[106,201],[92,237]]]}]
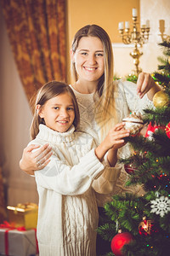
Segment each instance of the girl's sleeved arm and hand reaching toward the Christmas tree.
[{"label": "girl's sleeved arm and hand reaching toward the Christmas tree", "polygon": [[[57,155],[52,155],[48,166],[35,172],[38,185],[46,189],[53,189],[61,195],[83,194],[89,189],[94,179],[102,174],[105,166],[101,161],[105,153],[111,149],[111,155],[113,155],[112,151],[124,144],[122,138],[129,136],[129,132],[122,130],[123,126],[123,124],[115,125],[103,143],[89,151],[75,166],[70,166],[66,160],[63,162]],[[56,152],[56,154],[58,153]]]}]

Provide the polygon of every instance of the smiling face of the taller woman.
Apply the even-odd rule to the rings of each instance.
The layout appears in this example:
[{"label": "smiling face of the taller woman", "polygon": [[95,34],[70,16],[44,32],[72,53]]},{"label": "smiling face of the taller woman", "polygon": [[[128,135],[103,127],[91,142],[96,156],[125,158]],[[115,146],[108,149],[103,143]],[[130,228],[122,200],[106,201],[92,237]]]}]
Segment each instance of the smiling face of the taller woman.
[{"label": "smiling face of the taller woman", "polygon": [[80,80],[98,82],[105,71],[104,47],[99,38],[81,38],[76,52],[71,51],[71,59]]}]

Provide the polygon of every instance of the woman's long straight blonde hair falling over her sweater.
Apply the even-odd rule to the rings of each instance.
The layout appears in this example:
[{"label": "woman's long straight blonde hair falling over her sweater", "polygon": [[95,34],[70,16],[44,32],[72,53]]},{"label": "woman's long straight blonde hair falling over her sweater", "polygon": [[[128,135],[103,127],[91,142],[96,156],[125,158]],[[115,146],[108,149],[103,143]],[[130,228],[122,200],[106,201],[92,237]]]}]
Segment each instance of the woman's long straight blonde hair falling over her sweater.
[{"label": "woman's long straight blonde hair falling over her sweater", "polygon": [[[96,92],[99,95],[99,100],[95,102],[95,119],[99,124],[100,136],[105,137],[106,133],[111,129],[112,125],[116,123],[116,108],[115,108],[115,86],[113,81],[113,52],[111,46],[111,39],[107,32],[98,25],[83,26],[76,33],[72,41],[71,49],[73,53],[76,52],[79,41],[83,37],[99,38],[104,47],[104,63],[105,72],[98,82]],[[71,61],[71,73],[75,82],[77,81],[77,70],[75,63]]]}]

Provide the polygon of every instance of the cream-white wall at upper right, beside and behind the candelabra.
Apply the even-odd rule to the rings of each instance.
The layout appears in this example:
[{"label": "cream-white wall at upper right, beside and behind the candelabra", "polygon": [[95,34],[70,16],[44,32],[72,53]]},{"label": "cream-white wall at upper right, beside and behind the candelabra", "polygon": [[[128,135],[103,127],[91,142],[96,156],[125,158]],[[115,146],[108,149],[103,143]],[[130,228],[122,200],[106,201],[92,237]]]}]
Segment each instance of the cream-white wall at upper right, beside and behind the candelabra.
[{"label": "cream-white wall at upper right, beside and behind the candelabra", "polygon": [[162,42],[159,29],[159,20],[165,21],[165,34],[170,36],[170,0],[141,0],[141,22],[150,20],[150,40],[144,44],[144,56],[141,57],[141,67],[144,71],[152,73],[156,71],[158,56],[163,56],[162,49],[158,45]]}]

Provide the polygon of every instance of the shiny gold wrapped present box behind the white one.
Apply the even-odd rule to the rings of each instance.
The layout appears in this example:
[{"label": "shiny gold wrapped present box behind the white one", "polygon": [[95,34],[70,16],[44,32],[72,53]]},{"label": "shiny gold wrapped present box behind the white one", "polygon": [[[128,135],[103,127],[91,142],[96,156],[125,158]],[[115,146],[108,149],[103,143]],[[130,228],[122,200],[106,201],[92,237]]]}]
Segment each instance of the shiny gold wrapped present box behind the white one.
[{"label": "shiny gold wrapped present box behind the white one", "polygon": [[37,204],[18,204],[16,207],[8,208],[8,220],[15,227],[24,226],[26,230],[37,228]]}]

